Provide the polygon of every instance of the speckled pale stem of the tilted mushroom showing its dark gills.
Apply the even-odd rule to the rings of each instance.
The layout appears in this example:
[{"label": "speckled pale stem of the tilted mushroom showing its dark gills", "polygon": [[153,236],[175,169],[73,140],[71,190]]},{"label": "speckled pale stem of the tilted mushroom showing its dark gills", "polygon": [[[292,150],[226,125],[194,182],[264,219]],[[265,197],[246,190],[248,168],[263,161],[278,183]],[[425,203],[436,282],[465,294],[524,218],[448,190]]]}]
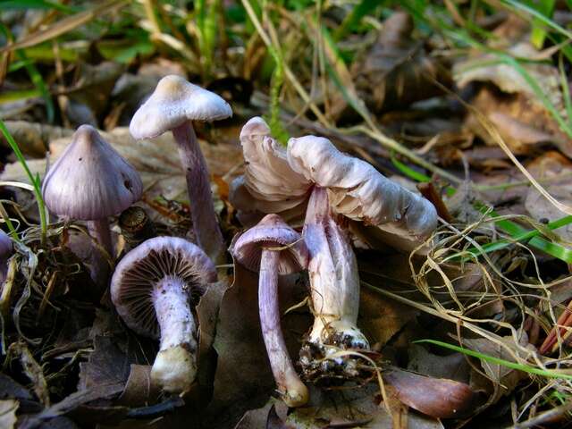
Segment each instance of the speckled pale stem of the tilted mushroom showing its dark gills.
[{"label": "speckled pale stem of the tilted mushroom showing its dark gills", "polygon": [[197,374],[197,325],[187,288],[180,278],[168,276],[156,284],[151,296],[161,328],[161,346],[151,379],[164,391],[189,391]]}]

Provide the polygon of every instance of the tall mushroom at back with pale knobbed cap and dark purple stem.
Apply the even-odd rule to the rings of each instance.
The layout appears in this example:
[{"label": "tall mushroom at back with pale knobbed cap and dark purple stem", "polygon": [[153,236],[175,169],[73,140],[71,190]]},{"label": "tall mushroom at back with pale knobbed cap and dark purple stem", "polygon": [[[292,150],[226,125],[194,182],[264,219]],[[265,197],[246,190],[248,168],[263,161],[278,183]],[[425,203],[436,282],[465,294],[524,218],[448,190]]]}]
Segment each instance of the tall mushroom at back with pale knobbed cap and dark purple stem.
[{"label": "tall mushroom at back with pale knobbed cap and dark purple stem", "polygon": [[134,139],[152,139],[171,130],[186,174],[193,231],[198,246],[214,261],[223,258],[223,234],[214,213],[205,158],[192,121],[216,121],[232,115],[231,106],[213,92],[180,76],[165,76],[130,122]]}]

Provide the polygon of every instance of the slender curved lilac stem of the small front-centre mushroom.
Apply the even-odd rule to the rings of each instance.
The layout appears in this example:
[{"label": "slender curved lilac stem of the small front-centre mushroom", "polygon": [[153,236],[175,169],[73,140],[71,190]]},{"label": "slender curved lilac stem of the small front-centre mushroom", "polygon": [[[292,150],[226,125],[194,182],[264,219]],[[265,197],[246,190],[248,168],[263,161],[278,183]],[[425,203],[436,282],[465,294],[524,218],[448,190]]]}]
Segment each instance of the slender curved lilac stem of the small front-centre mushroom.
[{"label": "slender curved lilac stem of the small front-centre mushroom", "polygon": [[278,299],[278,264],[280,252],[263,249],[258,281],[258,310],[260,325],[265,340],[266,352],[282,400],[289,407],[299,407],[307,403],[307,387],[299,379],[292,365],[280,324]]}]

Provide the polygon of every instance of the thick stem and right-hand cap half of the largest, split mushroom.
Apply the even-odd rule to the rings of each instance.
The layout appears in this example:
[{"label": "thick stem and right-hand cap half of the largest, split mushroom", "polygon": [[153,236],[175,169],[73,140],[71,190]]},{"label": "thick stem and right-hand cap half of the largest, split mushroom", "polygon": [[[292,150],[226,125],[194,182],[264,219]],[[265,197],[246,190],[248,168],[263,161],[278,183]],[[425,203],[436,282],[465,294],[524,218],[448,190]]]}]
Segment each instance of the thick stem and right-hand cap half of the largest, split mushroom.
[{"label": "thick stem and right-hand cap half of the largest, split mushroom", "polygon": [[301,351],[302,365],[312,367],[315,350],[318,356],[327,356],[336,348],[369,347],[357,328],[357,261],[342,216],[422,239],[436,227],[437,214],[428,200],[388,180],[365,161],[342,154],[328,139],[290,139],[288,160],[292,170],[314,183],[303,236],[310,252],[308,273],[316,316],[307,347]]}]

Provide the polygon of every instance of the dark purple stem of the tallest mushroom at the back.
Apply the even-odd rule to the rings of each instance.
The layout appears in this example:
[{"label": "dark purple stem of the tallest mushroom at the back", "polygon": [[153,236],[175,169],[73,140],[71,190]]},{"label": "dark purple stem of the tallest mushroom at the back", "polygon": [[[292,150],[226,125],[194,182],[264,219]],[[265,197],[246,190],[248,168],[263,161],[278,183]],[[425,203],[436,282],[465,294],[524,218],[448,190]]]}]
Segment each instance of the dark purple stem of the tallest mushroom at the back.
[{"label": "dark purple stem of the tallest mushroom at the back", "polygon": [[214,263],[223,262],[223,234],[214,213],[208,169],[195,130],[188,121],[174,128],[172,135],[179,146],[181,164],[185,170],[193,232],[198,247],[203,248]]}]

